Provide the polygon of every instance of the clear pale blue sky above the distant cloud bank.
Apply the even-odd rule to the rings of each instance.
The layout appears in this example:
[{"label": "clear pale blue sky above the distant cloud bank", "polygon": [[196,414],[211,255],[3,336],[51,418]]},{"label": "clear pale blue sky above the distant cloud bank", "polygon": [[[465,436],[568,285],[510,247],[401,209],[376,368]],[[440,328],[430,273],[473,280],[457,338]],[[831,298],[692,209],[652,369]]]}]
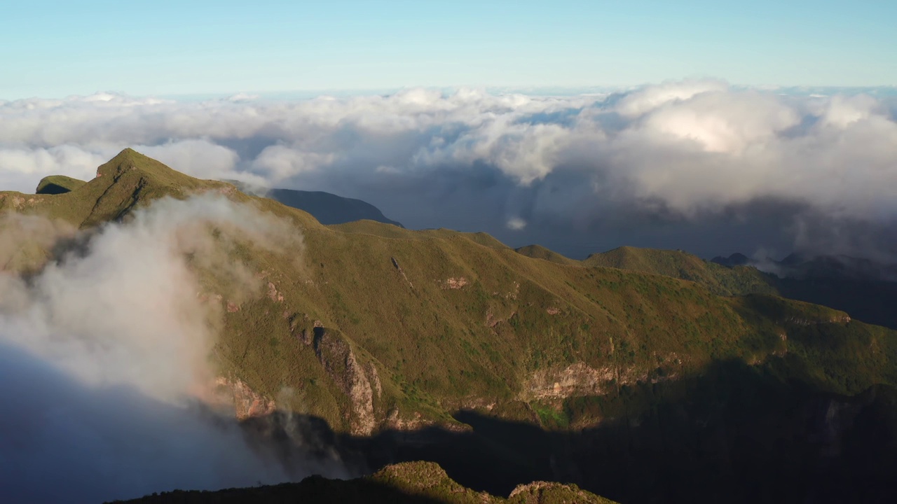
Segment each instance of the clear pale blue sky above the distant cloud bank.
[{"label": "clear pale blue sky above the distant cloud bank", "polygon": [[897,2],[7,2],[0,99],[897,84]]}]

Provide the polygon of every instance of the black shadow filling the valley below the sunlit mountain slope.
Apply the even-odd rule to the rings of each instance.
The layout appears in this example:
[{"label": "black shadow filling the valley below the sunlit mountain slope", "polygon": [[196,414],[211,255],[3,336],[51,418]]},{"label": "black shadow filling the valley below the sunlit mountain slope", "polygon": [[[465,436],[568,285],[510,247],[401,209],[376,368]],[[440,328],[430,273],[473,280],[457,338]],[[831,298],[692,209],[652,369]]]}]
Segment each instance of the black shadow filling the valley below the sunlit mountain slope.
[{"label": "black shadow filling the valley below the sunlit mountain slope", "polygon": [[[306,436],[332,442],[350,466],[428,460],[497,496],[544,480],[623,503],[897,500],[897,389],[826,393],[785,378],[796,364],[724,361],[700,376],[564,401],[559,413],[568,418],[605,419],[588,429],[544,430],[462,411],[457,420],[472,430],[358,438],[319,419],[300,421]],[[277,414],[244,425],[264,436],[292,429]]]}]

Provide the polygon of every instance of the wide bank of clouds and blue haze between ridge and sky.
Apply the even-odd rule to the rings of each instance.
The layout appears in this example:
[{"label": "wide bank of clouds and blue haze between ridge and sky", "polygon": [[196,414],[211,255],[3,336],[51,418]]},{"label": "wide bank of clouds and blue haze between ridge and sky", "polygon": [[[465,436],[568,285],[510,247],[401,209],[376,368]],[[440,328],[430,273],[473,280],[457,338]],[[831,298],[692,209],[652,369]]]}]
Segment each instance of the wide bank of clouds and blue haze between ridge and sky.
[{"label": "wide bank of clouds and blue haze between ridge and sky", "polygon": [[196,177],[329,191],[408,227],[570,256],[634,245],[893,257],[895,100],[815,91],[694,81],[563,97],[0,102],[0,187],[91,178],[131,146]]}]

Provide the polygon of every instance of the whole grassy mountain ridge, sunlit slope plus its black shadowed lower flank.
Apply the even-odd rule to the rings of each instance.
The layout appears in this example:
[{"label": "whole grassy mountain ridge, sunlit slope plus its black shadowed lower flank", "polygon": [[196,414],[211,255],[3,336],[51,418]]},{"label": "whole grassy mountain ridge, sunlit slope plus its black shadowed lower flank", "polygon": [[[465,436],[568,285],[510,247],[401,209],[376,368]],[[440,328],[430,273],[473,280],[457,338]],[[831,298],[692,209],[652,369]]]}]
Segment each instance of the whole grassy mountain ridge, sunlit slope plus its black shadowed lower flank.
[{"label": "whole grassy mountain ridge, sunlit slope plus its black shadowed lower flank", "polygon": [[[779,297],[754,268],[635,248],[576,262],[483,233],[325,226],[129,149],[69,192],[0,193],[0,210],[89,231],[197,193],[304,237],[290,260],[235,252],[260,296],[215,298],[224,280],[204,277],[222,313],[210,358],[248,428],[301,414],[370,467],[434,460],[501,495],[544,479],[631,502],[799,500],[814,479],[878,491],[874,468],[897,468],[891,451],[858,461],[839,448],[894,434],[897,334]],[[27,273],[59,250],[23,239],[9,253],[0,265]]]}]

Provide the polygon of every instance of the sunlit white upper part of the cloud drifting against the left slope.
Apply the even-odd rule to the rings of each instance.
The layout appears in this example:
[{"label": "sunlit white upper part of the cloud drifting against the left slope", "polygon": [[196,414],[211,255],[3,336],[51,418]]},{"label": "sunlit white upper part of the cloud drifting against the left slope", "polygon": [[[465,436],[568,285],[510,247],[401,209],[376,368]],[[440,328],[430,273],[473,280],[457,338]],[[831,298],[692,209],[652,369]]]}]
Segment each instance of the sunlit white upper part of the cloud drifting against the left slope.
[{"label": "sunlit white upper part of the cloud drifting against the left slope", "polygon": [[[212,226],[219,238],[213,238]],[[71,234],[58,230],[60,237]],[[202,287],[187,256],[195,267],[227,272],[234,291],[252,291],[258,286],[254,275],[233,264],[222,247],[245,236],[258,247],[276,243],[281,249],[296,232],[220,197],[163,199],[126,225],[101,229],[83,256],[47,265],[29,286],[5,282],[0,295],[20,295],[14,296],[19,302],[13,317],[0,303],[4,340],[87,384],[127,385],[176,400],[213,378],[207,365],[213,312],[197,296]],[[24,306],[21,300],[27,300]]]}]

